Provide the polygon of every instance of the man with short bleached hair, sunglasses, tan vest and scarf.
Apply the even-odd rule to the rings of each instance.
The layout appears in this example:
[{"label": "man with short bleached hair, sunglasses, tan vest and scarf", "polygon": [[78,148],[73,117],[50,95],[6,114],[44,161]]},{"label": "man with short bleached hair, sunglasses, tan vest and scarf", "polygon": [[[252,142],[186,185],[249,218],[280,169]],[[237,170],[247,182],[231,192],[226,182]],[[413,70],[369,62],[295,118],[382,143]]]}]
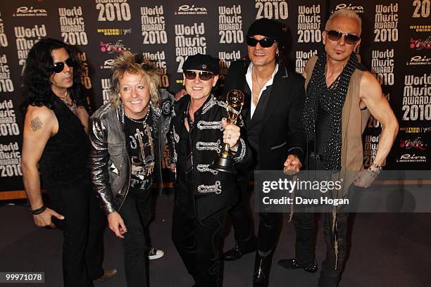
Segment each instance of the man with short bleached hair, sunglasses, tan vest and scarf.
[{"label": "man with short bleached hair, sunglasses, tan vest and scarf", "polygon": [[[308,142],[308,170],[326,170],[344,186],[332,193],[344,198],[353,186],[366,188],[377,177],[385,162],[398,123],[379,82],[358,63],[355,49],[361,43],[361,18],[349,9],[341,9],[327,20],[323,32],[325,51],[306,63],[306,102],[303,122]],[[382,124],[375,160],[363,169],[362,133],[369,115]],[[356,173],[357,172],[357,173]],[[355,176],[351,176],[356,173]],[[349,214],[342,208],[324,213],[326,259],[318,286],[336,287],[346,263],[346,236]],[[316,272],[315,222],[313,213],[295,213],[295,257],[280,260],[286,269]]]}]

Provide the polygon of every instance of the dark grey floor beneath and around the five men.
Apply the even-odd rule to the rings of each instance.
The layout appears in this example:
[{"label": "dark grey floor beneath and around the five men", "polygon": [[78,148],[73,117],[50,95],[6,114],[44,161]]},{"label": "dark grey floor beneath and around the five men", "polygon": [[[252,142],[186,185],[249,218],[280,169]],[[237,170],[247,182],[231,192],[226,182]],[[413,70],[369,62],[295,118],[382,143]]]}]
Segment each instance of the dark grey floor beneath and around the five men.
[{"label": "dark grey floor beneath and around the five men", "polygon": [[[150,232],[154,247],[165,250],[165,256],[150,263],[152,287],[190,287],[193,283],[170,240],[172,209],[173,196],[158,198],[156,217]],[[257,224],[257,214],[254,214],[254,219]],[[62,286],[61,231],[38,229],[27,208],[21,205],[1,205],[0,220],[0,272],[45,272],[43,285],[0,283],[0,286]],[[325,255],[321,226],[322,222],[319,222],[316,247],[319,267]],[[227,249],[234,244],[229,222],[225,234]],[[351,244],[349,261],[340,286],[431,286],[431,213],[357,214],[354,217]],[[118,269],[118,275],[110,281],[96,282],[95,286],[125,286],[120,239],[107,230],[105,246],[104,266]],[[277,260],[292,257],[293,250],[293,225],[284,220],[270,286],[317,285],[319,273],[287,271],[278,267]],[[253,266],[252,254],[236,262],[225,262],[223,286],[251,286]]]}]

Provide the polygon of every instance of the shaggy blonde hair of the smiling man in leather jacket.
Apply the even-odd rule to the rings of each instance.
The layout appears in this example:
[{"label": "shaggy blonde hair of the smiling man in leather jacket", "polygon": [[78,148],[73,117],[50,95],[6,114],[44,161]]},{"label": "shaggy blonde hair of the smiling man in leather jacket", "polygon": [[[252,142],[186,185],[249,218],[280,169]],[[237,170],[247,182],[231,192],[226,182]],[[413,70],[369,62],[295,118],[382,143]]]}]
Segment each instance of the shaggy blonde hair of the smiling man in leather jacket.
[{"label": "shaggy blonde hair of the smiling man in leather jacket", "polygon": [[143,59],[140,56],[130,51],[125,51],[114,60],[111,79],[111,104],[115,108],[120,106],[120,79],[123,78],[125,72],[146,77],[149,85],[151,104],[154,108],[158,108],[160,105],[160,94],[158,94],[160,75],[158,75],[155,68],[143,63]]}]

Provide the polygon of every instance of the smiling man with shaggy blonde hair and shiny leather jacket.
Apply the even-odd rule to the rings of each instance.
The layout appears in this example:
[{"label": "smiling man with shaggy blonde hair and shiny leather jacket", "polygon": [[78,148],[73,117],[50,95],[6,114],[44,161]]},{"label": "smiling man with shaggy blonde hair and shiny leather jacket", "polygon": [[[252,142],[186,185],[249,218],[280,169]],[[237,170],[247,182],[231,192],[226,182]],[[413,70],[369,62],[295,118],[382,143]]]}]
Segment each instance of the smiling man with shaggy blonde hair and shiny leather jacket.
[{"label": "smiling man with shaggy blonde hair and shiny leather jacket", "polygon": [[123,239],[128,287],[147,286],[145,228],[155,173],[161,187],[162,127],[171,112],[160,108],[158,82],[154,68],[126,51],[113,63],[111,102],[90,118],[93,186],[109,228]]}]

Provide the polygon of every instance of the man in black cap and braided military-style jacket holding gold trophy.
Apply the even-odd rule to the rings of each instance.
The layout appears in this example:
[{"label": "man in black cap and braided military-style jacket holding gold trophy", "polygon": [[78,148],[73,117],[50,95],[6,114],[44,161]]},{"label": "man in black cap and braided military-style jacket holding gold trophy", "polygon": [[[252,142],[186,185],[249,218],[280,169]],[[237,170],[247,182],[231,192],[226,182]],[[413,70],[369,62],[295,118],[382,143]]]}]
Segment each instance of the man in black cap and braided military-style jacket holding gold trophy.
[{"label": "man in black cap and braided military-style jacket holding gold trophy", "polygon": [[223,119],[226,104],[211,94],[218,80],[218,60],[198,53],[187,58],[182,70],[187,94],[175,103],[173,121],[178,154],[172,238],[194,286],[222,286],[219,234],[238,191],[235,174],[210,165],[223,143],[230,145],[237,165],[251,154],[239,127]]}]

